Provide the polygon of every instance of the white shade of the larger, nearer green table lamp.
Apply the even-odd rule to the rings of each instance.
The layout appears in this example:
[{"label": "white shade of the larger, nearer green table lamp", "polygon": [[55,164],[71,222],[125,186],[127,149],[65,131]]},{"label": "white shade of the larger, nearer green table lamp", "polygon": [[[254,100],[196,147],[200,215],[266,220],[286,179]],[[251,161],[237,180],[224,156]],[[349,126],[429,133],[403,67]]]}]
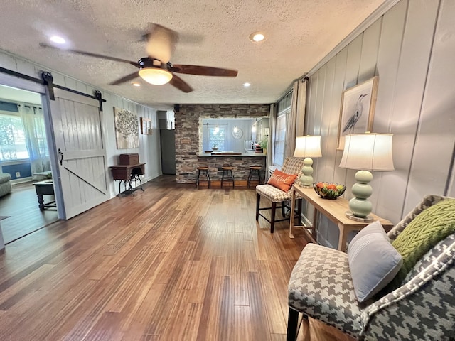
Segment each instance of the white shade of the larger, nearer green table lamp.
[{"label": "white shade of the larger, nearer green table lamp", "polygon": [[340,167],[364,171],[393,171],[393,134],[350,134],[345,136]]}]

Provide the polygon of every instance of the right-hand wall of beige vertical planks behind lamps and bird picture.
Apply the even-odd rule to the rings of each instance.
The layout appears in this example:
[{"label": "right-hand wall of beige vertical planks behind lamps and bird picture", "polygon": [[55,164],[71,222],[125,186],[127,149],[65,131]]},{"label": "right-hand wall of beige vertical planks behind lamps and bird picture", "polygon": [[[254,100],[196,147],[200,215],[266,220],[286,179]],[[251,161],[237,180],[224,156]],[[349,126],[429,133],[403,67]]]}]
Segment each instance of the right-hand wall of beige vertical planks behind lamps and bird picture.
[{"label": "right-hand wall of beige vertical planks behind lamps and bird picture", "polygon": [[[378,75],[373,132],[394,134],[396,170],[374,172],[370,200],[373,212],[395,223],[423,195],[455,193],[454,16],[451,0],[399,1],[325,65],[309,72],[305,129],[306,134],[321,133],[323,148],[314,178],[346,184],[348,199],[355,171],[338,167],[341,96]],[[332,226],[330,234],[320,231],[319,237],[332,244],[337,231]]]}]

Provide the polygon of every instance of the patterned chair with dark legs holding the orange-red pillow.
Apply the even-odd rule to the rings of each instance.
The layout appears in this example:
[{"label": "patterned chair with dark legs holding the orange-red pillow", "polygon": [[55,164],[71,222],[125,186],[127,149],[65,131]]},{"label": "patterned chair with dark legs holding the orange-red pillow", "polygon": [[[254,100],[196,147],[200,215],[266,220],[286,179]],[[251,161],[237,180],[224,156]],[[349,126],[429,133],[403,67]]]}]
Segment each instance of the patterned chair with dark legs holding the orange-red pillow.
[{"label": "patterned chair with dark legs holding the orange-red pillow", "polygon": [[[304,166],[304,159],[303,158],[286,158],[284,160],[282,172],[287,174],[298,174],[295,181],[299,181],[301,175],[301,168]],[[295,183],[294,181],[294,183]],[[272,202],[271,207],[260,207],[261,197],[266,197],[270,202]],[[256,220],[259,220],[259,215],[263,217],[267,222],[270,223],[270,233],[274,232],[275,222],[282,222],[284,220],[289,220],[289,217],[285,217],[284,215],[284,207],[290,209],[289,205],[286,205],[287,200],[291,200],[292,198],[292,188],[287,192],[280,190],[272,185],[259,185],[256,186]],[[299,224],[301,224],[301,197],[296,194],[297,199],[297,210],[298,213],[296,218],[299,219]],[[277,203],[281,202],[282,205],[277,207]],[[282,209],[282,219],[275,219],[276,210],[277,208]],[[262,215],[260,211],[262,210],[271,210],[270,212],[270,220]]]}]

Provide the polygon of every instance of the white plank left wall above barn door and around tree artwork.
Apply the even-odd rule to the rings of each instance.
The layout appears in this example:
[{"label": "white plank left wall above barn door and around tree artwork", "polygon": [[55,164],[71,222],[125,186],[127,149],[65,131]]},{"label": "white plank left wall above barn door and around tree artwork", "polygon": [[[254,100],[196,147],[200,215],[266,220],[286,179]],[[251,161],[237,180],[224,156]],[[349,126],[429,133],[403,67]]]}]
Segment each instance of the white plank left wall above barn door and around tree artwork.
[{"label": "white plank left wall above barn door and around tree artwork", "polygon": [[[145,107],[141,104],[137,104],[128,99],[112,94],[111,92],[92,87],[92,85],[80,82],[71,77],[54,72],[53,70],[48,70],[41,65],[34,64],[28,60],[23,60],[18,56],[11,55],[10,53],[2,50],[0,50],[0,66],[38,79],[41,79],[41,71],[49,71],[52,73],[53,82],[56,85],[62,85],[85,94],[93,94],[95,90],[100,90],[102,92],[102,98],[106,99],[106,102],[103,102],[102,104],[102,117],[103,135],[107,154],[107,167],[117,164],[118,156],[121,153],[139,153],[139,161],[146,163],[145,174],[142,178],[142,182],[144,183],[147,180],[151,180],[161,175],[161,151],[156,109]],[[36,87],[39,88],[40,86],[37,85]],[[37,91],[39,92],[39,90]],[[139,133],[139,148],[117,149],[114,129],[114,107],[128,109],[129,111],[137,114],[138,129],[139,117],[151,119],[153,134],[142,135]],[[118,183],[114,183],[110,171],[108,171],[108,173],[111,180],[109,188],[110,197],[114,197],[117,195]]]}]

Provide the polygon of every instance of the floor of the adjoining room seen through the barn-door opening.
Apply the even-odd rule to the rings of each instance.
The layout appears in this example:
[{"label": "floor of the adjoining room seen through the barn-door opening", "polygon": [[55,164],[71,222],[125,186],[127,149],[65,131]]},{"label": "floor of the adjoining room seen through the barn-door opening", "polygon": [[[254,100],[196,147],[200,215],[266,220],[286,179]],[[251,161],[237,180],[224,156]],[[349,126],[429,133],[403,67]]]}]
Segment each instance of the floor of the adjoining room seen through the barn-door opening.
[{"label": "floor of the adjoining room seen through the barn-door opening", "polygon": [[[50,196],[45,195],[45,202]],[[0,215],[9,215],[1,221],[5,243],[25,236],[58,220],[57,210],[40,211],[35,187],[31,182],[13,185],[13,191],[0,197]]]}]

